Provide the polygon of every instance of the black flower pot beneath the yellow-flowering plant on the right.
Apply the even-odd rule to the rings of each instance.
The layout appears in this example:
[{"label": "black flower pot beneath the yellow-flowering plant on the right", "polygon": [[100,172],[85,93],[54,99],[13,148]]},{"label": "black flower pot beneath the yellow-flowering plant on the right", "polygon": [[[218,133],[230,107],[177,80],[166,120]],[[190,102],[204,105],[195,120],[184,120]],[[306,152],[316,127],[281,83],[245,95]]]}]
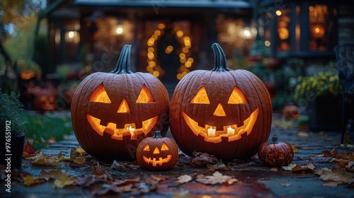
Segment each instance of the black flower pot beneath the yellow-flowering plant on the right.
[{"label": "black flower pot beneath the yellow-flowering plant on the right", "polygon": [[309,102],[309,129],[314,132],[341,129],[341,103],[339,97],[319,96]]}]

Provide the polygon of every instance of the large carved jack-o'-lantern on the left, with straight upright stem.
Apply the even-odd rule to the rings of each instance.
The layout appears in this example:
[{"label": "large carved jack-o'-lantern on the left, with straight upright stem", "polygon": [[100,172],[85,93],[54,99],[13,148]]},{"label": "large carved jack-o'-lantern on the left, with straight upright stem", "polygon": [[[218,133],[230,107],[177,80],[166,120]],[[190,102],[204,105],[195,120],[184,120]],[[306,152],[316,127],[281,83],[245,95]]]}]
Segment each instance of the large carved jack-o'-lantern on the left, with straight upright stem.
[{"label": "large carved jack-o'-lantern on the left, with straight upright stem", "polygon": [[[102,161],[132,161],[139,141],[156,130],[164,136],[169,127],[166,88],[152,74],[132,73],[129,56],[130,45],[125,45],[116,69],[90,74],[72,98],[76,139],[87,153]],[[142,95],[149,100],[138,99]],[[128,127],[135,128],[132,134]]]}]

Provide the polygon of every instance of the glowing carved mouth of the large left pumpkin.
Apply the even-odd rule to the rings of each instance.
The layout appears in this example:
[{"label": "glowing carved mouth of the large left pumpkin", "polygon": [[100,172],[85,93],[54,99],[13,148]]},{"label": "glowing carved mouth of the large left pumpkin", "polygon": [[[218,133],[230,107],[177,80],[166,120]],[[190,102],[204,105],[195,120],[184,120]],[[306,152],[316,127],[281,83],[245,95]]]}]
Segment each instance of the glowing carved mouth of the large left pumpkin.
[{"label": "glowing carved mouth of the large left pumpkin", "polygon": [[149,120],[145,120],[142,122],[142,128],[135,129],[135,123],[125,124],[124,129],[117,129],[117,124],[113,122],[108,122],[107,126],[101,125],[101,119],[97,117],[93,117],[92,115],[87,114],[87,120],[91,124],[91,127],[95,132],[103,136],[103,132],[106,132],[112,135],[112,139],[122,140],[123,136],[130,136],[130,139],[137,139],[139,134],[148,134],[154,125],[157,122],[157,118],[159,116],[155,116],[150,118]]}]

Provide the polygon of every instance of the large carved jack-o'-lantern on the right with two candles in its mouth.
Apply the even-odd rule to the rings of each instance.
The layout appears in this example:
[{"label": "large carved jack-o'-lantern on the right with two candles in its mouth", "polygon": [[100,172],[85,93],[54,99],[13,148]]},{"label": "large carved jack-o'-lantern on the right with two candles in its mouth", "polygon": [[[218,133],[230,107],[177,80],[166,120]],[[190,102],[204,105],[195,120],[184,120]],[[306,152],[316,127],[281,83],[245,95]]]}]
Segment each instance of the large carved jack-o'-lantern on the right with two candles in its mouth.
[{"label": "large carved jack-o'-lantern on the right with two candles in its mouth", "polygon": [[[214,69],[191,71],[173,92],[169,112],[173,138],[189,156],[201,151],[224,161],[250,158],[270,134],[270,95],[261,79],[250,71],[229,69],[217,43],[212,50]],[[208,101],[199,101],[203,95]],[[232,98],[242,100],[229,101]],[[215,139],[209,138],[208,127],[215,128]],[[227,127],[235,130],[234,136],[227,135]]]}]

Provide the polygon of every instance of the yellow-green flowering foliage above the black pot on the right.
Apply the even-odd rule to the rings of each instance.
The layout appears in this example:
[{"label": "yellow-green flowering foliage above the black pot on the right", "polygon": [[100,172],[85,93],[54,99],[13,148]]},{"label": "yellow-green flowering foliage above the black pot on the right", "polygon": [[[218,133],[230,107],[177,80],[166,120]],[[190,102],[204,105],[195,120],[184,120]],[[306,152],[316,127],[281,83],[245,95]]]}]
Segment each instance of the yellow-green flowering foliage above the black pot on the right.
[{"label": "yellow-green flowering foliage above the black pot on the right", "polygon": [[340,91],[338,71],[336,68],[329,66],[324,71],[311,76],[299,76],[295,87],[295,100],[307,98],[310,95],[338,96]]}]

